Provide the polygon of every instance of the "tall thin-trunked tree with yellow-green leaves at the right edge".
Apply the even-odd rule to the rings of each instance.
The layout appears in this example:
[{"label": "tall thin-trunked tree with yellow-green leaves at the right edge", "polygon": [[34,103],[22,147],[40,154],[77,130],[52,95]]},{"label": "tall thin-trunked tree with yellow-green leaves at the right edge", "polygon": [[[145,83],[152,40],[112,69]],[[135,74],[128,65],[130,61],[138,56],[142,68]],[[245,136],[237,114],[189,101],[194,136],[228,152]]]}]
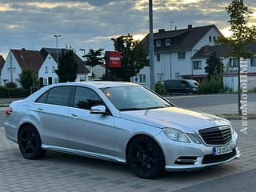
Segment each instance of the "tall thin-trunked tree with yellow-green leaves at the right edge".
[{"label": "tall thin-trunked tree with yellow-green leaves at the right edge", "polygon": [[229,38],[220,37],[218,43],[232,48],[226,56],[238,58],[238,114],[241,110],[241,89],[240,89],[240,58],[251,58],[252,53],[246,51],[246,47],[256,39],[256,27],[247,26],[250,14],[253,12],[249,6],[245,6],[243,0],[233,0],[226,7],[227,14],[230,14],[230,23],[232,35]]}]

